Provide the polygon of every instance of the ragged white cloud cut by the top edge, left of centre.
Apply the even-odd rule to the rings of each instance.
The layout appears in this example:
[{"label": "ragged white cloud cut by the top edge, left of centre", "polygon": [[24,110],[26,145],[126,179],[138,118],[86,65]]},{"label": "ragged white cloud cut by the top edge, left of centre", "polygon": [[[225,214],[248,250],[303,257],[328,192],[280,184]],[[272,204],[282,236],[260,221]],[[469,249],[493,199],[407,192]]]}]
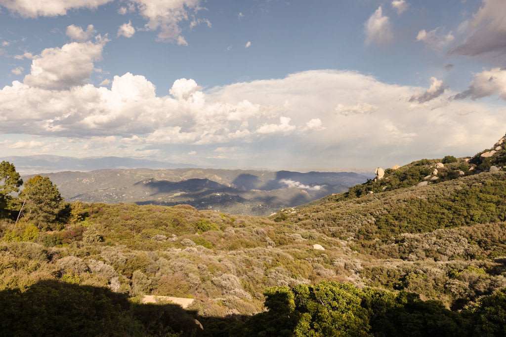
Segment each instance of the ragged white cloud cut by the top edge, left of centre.
[{"label": "ragged white cloud cut by the top edge, left of centre", "polygon": [[[131,0],[139,14],[148,20],[145,28],[158,31],[158,40],[182,43],[181,24],[190,20],[200,9],[200,0]],[[195,21],[195,20],[193,20]],[[198,21],[196,21],[198,22]],[[181,37],[181,38],[180,38]]]}]

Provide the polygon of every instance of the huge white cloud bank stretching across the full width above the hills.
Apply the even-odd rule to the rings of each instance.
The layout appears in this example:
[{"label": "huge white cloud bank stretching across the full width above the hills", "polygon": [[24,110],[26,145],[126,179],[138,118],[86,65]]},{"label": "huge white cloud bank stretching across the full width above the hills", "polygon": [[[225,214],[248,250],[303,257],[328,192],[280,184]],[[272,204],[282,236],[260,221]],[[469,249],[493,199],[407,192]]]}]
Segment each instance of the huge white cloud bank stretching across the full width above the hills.
[{"label": "huge white cloud bank stretching across the full width above the hills", "polygon": [[[423,88],[351,71],[305,71],[208,90],[181,79],[166,94],[155,89],[130,73],[114,76],[110,87],[84,83],[59,91],[14,81],[0,89],[0,133],[38,135],[57,153],[68,147],[87,155],[167,158],[180,151],[187,158],[186,146],[209,153],[214,145],[240,147],[241,165],[318,169],[472,154],[504,132],[490,130],[506,125],[499,106],[412,104],[409,98]],[[223,159],[227,163],[237,165]]]}]

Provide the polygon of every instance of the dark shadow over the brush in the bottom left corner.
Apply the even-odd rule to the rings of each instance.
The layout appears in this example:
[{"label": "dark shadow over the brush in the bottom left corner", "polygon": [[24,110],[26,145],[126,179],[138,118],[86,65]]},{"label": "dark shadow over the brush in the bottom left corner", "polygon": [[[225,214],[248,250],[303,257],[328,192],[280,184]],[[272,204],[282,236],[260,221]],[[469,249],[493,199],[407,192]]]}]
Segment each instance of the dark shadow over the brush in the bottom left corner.
[{"label": "dark shadow over the brush in the bottom left corner", "polygon": [[0,336],[225,336],[246,318],[137,304],[108,288],[54,280],[0,292],[0,317]]}]

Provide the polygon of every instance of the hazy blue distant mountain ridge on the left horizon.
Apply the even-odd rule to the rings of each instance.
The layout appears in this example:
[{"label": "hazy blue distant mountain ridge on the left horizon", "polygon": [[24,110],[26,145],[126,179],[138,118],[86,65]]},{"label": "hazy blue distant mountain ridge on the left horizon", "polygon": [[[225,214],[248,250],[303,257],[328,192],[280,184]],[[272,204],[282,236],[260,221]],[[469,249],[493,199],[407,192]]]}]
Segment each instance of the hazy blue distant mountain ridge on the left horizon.
[{"label": "hazy blue distant mountain ridge on the left horizon", "polygon": [[0,161],[8,161],[16,166],[18,172],[47,173],[61,171],[94,171],[115,168],[194,168],[192,164],[169,163],[150,159],[128,157],[89,157],[74,158],[63,156],[37,155],[37,156],[9,156],[0,158]]}]

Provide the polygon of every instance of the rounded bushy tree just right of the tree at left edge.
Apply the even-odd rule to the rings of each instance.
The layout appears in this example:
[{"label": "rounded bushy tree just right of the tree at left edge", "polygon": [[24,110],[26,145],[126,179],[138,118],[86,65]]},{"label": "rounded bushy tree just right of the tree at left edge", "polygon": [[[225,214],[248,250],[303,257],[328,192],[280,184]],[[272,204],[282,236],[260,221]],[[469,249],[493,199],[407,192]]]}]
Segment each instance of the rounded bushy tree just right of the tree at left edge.
[{"label": "rounded bushy tree just right of the tree at left edge", "polygon": [[58,219],[63,209],[63,199],[48,177],[36,175],[25,182],[20,198],[26,201],[25,217],[37,225],[48,227]]}]

